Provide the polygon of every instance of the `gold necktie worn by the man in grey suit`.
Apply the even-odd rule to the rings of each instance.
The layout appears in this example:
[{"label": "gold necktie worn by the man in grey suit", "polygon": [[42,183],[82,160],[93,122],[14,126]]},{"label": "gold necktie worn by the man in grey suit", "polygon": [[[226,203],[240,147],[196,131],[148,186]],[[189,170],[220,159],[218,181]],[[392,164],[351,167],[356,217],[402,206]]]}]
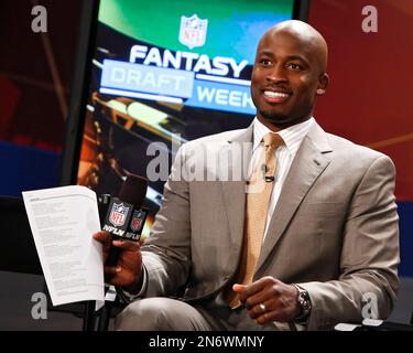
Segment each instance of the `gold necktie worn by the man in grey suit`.
[{"label": "gold necktie worn by the man in grey suit", "polygon": [[[264,151],[259,158],[248,185],[242,255],[235,284],[250,284],[256,272],[274,184],[275,149],[284,143],[280,135],[272,132],[263,137],[263,142]],[[227,299],[232,309],[241,304],[231,288]]]}]

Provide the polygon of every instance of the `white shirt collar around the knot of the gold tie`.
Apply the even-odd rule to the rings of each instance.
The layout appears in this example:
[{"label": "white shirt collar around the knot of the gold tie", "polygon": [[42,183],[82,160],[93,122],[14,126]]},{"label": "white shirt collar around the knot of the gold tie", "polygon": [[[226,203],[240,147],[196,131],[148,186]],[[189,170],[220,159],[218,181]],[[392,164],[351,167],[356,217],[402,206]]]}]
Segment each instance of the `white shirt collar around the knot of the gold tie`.
[{"label": "white shirt collar around the knot of the gold tie", "polygon": [[[286,129],[278,131],[282,139],[285,142],[285,147],[291,154],[295,154],[298,150],[301,142],[303,142],[305,136],[308,133],[309,128],[315,122],[314,117],[311,117],[308,120],[293,125]],[[257,117],[253,120],[253,151],[260,145],[264,135],[271,131],[265,125],[263,125]]]}]

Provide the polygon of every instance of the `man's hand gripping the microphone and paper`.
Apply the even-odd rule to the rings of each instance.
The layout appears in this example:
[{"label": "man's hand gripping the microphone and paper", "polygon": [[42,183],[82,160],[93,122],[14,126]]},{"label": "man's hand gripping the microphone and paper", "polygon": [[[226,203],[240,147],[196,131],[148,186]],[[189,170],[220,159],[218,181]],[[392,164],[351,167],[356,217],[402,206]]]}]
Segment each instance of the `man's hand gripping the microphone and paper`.
[{"label": "man's hand gripping the microphone and paper", "polygon": [[94,234],[94,238],[104,245],[104,264],[108,258],[110,244],[122,249],[116,266],[105,266],[106,281],[123,287],[130,293],[137,293],[142,286],[142,254],[139,242],[112,240],[110,233],[104,231]]}]

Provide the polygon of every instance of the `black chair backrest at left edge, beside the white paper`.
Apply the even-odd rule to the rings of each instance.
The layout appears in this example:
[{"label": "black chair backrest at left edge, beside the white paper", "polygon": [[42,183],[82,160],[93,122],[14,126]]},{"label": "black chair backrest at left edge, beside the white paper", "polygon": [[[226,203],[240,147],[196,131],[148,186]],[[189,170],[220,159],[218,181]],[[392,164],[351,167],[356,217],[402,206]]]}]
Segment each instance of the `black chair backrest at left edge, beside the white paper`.
[{"label": "black chair backrest at left edge, beside the white paper", "polygon": [[0,196],[0,270],[42,275],[23,199]]}]

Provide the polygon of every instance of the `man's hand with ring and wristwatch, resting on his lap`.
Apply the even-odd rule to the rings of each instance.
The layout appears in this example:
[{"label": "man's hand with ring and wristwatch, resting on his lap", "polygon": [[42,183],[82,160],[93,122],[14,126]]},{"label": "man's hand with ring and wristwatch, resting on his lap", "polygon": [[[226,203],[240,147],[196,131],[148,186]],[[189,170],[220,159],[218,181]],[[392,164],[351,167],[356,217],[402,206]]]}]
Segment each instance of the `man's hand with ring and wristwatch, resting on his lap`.
[{"label": "man's hand with ring and wristwatch, resting on his lap", "polygon": [[259,324],[289,322],[300,313],[297,289],[271,276],[248,286],[233,285],[232,289],[239,293],[248,313]]}]

